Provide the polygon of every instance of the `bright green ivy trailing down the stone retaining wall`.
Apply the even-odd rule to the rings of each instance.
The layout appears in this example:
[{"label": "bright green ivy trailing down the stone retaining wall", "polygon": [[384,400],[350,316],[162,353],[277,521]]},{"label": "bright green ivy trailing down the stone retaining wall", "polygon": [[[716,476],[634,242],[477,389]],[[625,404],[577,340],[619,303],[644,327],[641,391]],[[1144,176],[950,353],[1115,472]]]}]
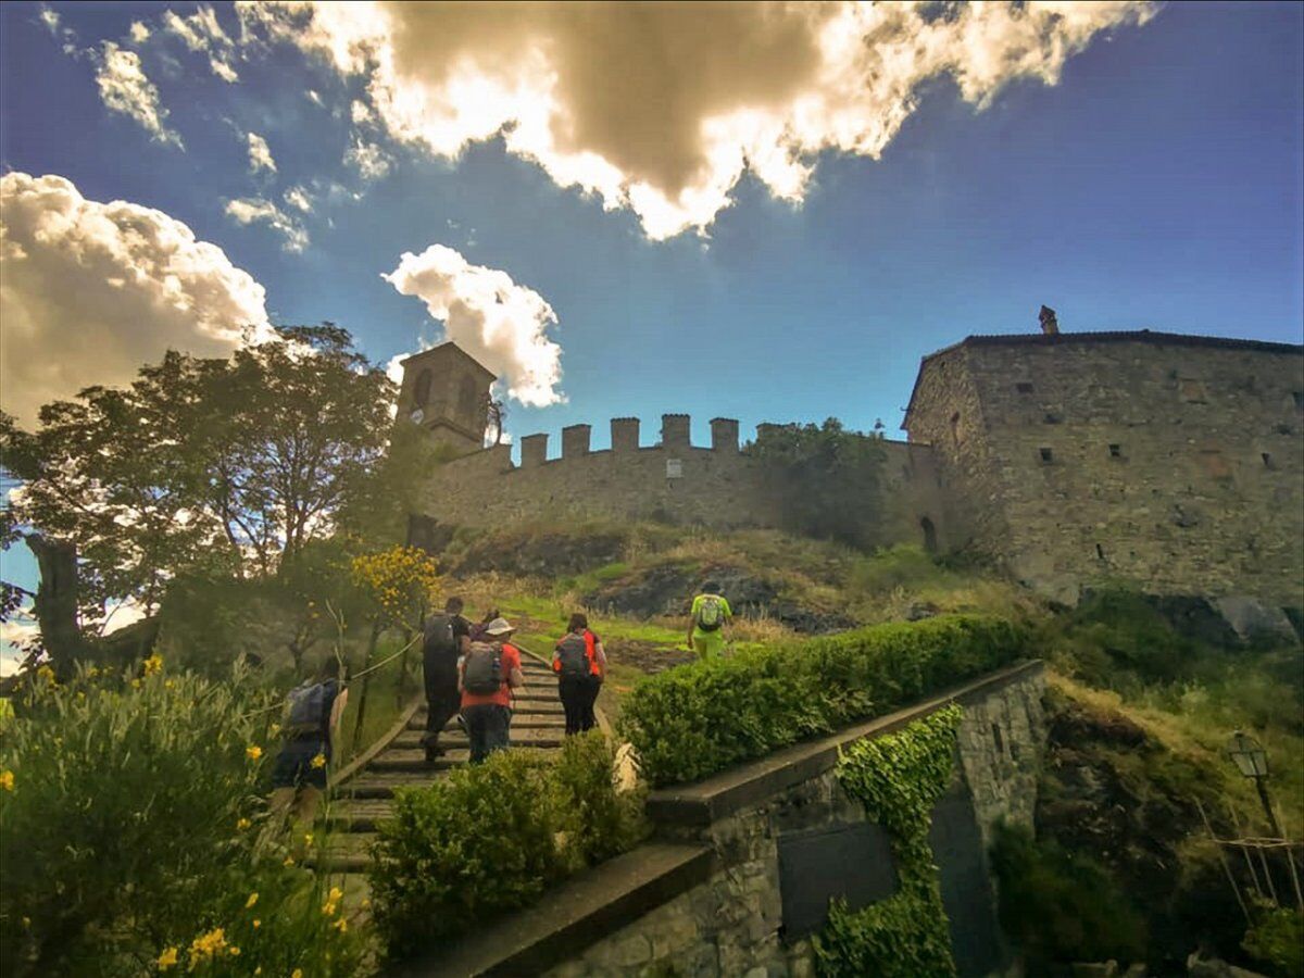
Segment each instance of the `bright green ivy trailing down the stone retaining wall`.
[{"label": "bright green ivy trailing down the stone retaining wall", "polygon": [[858,741],[837,763],[837,778],[866,816],[892,836],[900,889],[861,910],[829,906],[815,938],[825,978],[955,978],[951,934],[938,867],[928,845],[932,806],[947,790],[962,711],[951,704],[874,741]]}]

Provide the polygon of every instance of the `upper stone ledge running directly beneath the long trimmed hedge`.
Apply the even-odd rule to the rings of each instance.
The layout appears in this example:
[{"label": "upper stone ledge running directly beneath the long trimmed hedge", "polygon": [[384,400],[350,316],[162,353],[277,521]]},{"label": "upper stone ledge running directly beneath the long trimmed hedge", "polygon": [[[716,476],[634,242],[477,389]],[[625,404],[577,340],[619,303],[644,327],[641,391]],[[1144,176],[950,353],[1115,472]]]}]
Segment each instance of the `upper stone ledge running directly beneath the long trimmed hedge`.
[{"label": "upper stone ledge running directly beneath the long trimmed hedge", "polygon": [[760,805],[788,788],[818,777],[837,763],[837,754],[842,747],[862,737],[880,737],[892,733],[932,713],[947,703],[964,704],[966,700],[986,696],[1020,679],[1041,675],[1043,669],[1045,664],[1041,660],[1007,666],[979,679],[953,686],[922,703],[849,726],[818,741],[784,747],[775,754],[713,775],[704,781],[652,792],[648,794],[647,814],[653,822],[669,827],[702,828],[709,825],[739,808]]}]

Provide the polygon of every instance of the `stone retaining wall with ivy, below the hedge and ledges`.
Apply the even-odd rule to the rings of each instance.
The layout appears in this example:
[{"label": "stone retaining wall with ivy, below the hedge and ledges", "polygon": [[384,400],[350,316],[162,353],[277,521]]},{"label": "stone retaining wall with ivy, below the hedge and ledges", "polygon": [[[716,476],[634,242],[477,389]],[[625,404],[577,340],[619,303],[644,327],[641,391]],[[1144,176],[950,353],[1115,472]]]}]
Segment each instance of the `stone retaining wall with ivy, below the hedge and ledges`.
[{"label": "stone retaining wall with ivy, below the hedge and ledges", "polygon": [[[985,842],[990,841],[1001,818],[1031,825],[1037,769],[1045,745],[1043,683],[1039,668],[1025,666],[1012,670],[1008,681],[991,682],[974,695],[960,696],[965,716],[958,737],[955,789],[971,798]],[[900,729],[901,724],[927,715],[941,702],[900,722],[882,724],[880,733]],[[837,782],[833,773],[836,750],[823,755],[815,765],[818,771],[807,771],[811,756],[802,748],[795,748],[793,758],[790,769],[802,771],[802,780],[721,818],[712,818],[707,825],[677,828],[659,818],[662,835],[704,841],[715,850],[711,878],[546,974],[550,978],[649,973],[686,978],[814,974],[810,939],[789,940],[784,931],[780,841],[794,832],[862,824],[865,811]],[[764,764],[760,762],[758,767]],[[769,769],[767,777],[773,776],[775,771]],[[969,855],[986,859],[986,853]],[[943,866],[944,897],[945,875]]]}]

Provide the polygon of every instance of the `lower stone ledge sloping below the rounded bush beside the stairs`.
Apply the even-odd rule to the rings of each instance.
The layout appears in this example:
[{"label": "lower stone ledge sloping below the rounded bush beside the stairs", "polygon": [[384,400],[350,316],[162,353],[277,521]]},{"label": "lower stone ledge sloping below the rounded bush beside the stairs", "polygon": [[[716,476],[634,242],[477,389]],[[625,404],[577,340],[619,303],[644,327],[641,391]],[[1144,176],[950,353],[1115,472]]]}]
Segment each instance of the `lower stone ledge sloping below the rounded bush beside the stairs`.
[{"label": "lower stone ledge sloping below the rounded bush beside the stairs", "polygon": [[506,914],[488,930],[389,974],[541,974],[704,882],[711,867],[707,846],[643,845],[566,880],[535,906]]}]

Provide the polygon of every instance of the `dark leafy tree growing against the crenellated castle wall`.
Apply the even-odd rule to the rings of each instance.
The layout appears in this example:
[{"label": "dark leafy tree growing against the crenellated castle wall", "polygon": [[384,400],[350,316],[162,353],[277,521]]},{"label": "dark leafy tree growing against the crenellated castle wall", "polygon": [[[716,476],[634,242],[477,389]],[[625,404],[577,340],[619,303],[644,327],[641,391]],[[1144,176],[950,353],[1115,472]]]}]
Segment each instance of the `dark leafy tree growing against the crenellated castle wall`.
[{"label": "dark leafy tree growing against the crenellated castle wall", "polygon": [[872,546],[872,520],[857,519],[878,494],[882,434],[849,432],[836,417],[823,425],[775,425],[747,447],[763,463],[786,529],[855,546]]}]

